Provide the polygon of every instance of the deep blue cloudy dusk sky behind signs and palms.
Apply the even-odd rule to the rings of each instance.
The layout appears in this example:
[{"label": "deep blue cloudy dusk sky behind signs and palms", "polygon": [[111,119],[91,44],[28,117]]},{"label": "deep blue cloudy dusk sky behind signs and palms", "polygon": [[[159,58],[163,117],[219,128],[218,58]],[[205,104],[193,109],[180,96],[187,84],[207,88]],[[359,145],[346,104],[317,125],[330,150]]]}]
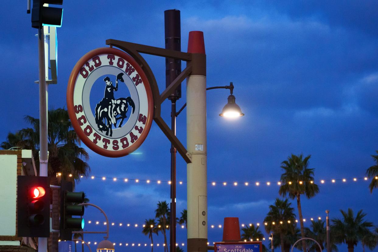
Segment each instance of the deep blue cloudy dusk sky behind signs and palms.
[{"label": "deep blue cloudy dusk sky behind signs and palms", "polygon": [[[235,85],[236,102],[245,113],[238,120],[218,116],[228,91],[207,93],[209,182],[260,182],[260,186],[217,185],[208,188],[209,225],[236,216],[241,223],[262,223],[268,205],[278,197],[280,162],[291,153],[310,155],[315,178],[342,179],[321,185],[312,199],[302,199],[304,218],[340,217],[339,209],[363,209],[378,224],[377,191],[370,194],[361,178],[373,165],[378,149],[378,3],[375,1],[65,1],[63,25],[58,28],[58,84],[50,85],[49,106],[66,106],[68,76],[77,60],[105,45],[106,39],[164,47],[164,10],[181,11],[181,48],[189,31],[203,31],[207,55],[207,86]],[[0,139],[26,127],[24,115],[38,117],[37,30],[31,28],[26,3],[11,1],[0,16],[0,74],[4,108]],[[5,26],[6,25],[6,26]],[[164,59],[145,57],[160,91],[165,87]],[[184,64],[183,64],[184,66]],[[185,103],[183,98],[178,107]],[[169,122],[170,104],[163,103]],[[178,138],[186,145],[186,113],[177,118]],[[170,143],[153,123],[138,155],[106,158],[91,152],[92,175],[109,178],[169,180]],[[186,164],[177,158],[177,179],[186,181]],[[272,182],[266,186],[263,182]],[[90,202],[108,214],[109,240],[117,251],[125,243],[149,244],[140,227],[152,218],[158,201],[169,201],[169,186],[111,179],[82,180]],[[186,208],[186,186],[177,187],[178,214]],[[293,201],[296,209],[296,202]],[[86,220],[104,221],[87,209]],[[101,222],[100,222],[101,223]],[[305,226],[308,226],[307,221]],[[103,226],[103,225],[102,225]],[[140,225],[139,225],[140,226]],[[87,224],[87,230],[99,230]],[[186,244],[186,231],[177,241]],[[85,240],[101,241],[101,235]],[[209,229],[209,241],[222,240],[222,229]],[[163,243],[160,234],[154,241]],[[122,243],[122,246],[118,246]],[[266,243],[268,244],[268,243]],[[340,246],[340,249],[346,249]],[[95,246],[92,246],[95,249]],[[163,251],[161,247],[156,251]],[[362,251],[358,244],[356,251]]]}]

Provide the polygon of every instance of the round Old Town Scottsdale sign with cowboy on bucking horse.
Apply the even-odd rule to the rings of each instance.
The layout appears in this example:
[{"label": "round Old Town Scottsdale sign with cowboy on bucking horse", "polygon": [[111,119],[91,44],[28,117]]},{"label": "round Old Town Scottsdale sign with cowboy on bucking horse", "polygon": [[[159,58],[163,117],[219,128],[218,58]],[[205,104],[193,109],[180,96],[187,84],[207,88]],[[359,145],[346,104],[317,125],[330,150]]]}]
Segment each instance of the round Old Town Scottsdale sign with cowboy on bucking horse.
[{"label": "round Old Town Scottsdale sign with cowboy on bucking horse", "polygon": [[146,139],[153,116],[152,92],[141,67],[115,48],[98,48],[74,66],[67,108],[80,139],[108,157],[125,156]]}]

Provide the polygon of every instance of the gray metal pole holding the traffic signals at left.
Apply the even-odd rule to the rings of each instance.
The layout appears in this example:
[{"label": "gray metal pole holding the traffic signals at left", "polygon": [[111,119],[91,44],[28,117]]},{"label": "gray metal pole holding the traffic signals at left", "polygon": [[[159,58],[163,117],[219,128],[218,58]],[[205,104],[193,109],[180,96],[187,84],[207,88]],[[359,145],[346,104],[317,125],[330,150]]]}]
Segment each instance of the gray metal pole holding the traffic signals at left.
[{"label": "gray metal pole holding the traffic signals at left", "polygon": [[[39,63],[39,176],[47,174],[47,105],[45,81],[45,38],[43,30],[38,30],[38,63]],[[38,252],[47,251],[47,239],[38,238]]]}]

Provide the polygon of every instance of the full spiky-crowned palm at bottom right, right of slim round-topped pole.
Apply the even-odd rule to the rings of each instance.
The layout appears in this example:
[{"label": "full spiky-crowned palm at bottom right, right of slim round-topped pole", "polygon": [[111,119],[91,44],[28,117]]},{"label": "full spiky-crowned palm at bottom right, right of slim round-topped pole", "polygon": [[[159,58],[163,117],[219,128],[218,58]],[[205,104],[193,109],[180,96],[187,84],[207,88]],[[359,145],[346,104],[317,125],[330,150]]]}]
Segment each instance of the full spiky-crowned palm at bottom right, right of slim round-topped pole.
[{"label": "full spiky-crowned palm at bottom right, right of slim round-topped pole", "polygon": [[358,241],[370,232],[373,223],[364,221],[366,213],[359,210],[354,217],[353,210],[348,208],[347,212],[340,210],[343,220],[339,218],[332,219],[331,233],[336,243],[345,243],[348,245],[348,252],[353,252]]}]

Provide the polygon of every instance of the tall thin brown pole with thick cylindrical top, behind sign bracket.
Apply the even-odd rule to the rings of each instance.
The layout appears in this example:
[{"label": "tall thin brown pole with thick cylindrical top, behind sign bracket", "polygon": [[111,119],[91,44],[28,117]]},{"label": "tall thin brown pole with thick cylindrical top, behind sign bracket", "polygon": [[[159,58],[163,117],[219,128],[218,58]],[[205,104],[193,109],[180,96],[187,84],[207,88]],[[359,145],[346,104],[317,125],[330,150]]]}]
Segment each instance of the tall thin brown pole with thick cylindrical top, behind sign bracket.
[{"label": "tall thin brown pole with thick cylindrical top, behind sign bracket", "polygon": [[[181,51],[180,11],[164,11],[165,48]],[[166,58],[166,87],[181,73],[181,60]],[[168,97],[171,107],[171,130],[176,135],[176,101],[181,98],[181,85]],[[176,250],[176,148],[170,146],[170,223],[169,251]]]}]

